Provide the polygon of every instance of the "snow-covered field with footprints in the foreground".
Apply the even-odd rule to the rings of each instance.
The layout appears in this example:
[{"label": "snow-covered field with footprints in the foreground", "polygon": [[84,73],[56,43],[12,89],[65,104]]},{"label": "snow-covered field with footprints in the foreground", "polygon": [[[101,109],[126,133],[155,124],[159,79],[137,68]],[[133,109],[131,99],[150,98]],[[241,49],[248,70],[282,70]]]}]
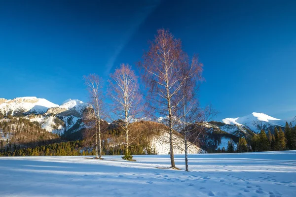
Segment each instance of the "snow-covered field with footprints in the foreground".
[{"label": "snow-covered field with footprints in the foreground", "polygon": [[0,197],[296,196],[296,151],[189,155],[190,172],[157,168],[169,166],[169,155],[104,159],[2,157]]}]

